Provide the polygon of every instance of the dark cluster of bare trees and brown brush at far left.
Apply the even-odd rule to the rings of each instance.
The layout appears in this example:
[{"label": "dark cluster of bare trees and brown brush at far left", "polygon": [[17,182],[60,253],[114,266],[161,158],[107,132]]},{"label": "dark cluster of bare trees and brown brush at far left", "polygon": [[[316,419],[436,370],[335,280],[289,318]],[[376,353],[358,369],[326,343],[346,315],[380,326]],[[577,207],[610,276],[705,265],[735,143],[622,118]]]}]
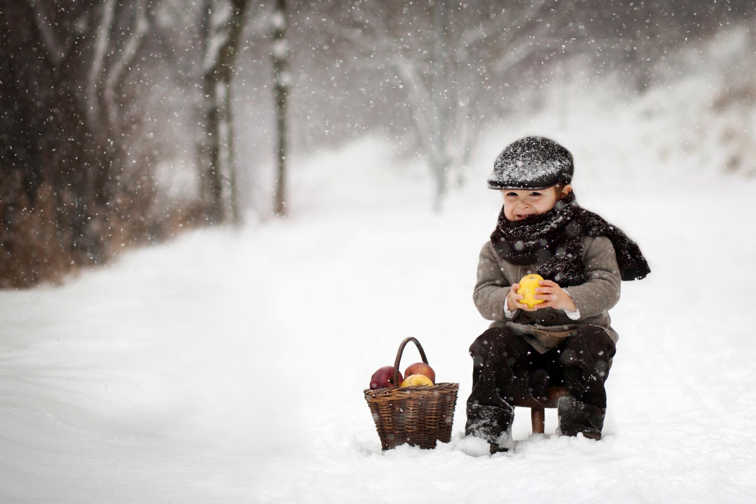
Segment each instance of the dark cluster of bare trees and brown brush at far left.
[{"label": "dark cluster of bare trees and brown brush at far left", "polygon": [[10,76],[0,84],[3,286],[104,261],[148,196],[123,184],[129,135],[141,117],[122,106],[150,30],[150,5],[87,0],[58,7],[3,4],[0,64]]}]

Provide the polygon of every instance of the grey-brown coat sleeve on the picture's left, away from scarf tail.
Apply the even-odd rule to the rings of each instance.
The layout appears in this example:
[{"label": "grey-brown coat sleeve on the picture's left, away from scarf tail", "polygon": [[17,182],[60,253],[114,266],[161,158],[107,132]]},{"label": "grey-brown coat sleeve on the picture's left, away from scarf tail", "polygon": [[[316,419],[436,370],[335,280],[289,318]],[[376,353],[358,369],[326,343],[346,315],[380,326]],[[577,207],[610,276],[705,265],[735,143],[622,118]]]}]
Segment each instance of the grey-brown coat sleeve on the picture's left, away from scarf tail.
[{"label": "grey-brown coat sleeve on the picture's left, away from scarf tail", "polygon": [[478,261],[478,280],[472,291],[472,301],[487,320],[512,320],[519,309],[511,312],[512,318],[504,315],[504,303],[510,293],[510,283],[499,267],[494,250],[488,242],[480,251]]}]

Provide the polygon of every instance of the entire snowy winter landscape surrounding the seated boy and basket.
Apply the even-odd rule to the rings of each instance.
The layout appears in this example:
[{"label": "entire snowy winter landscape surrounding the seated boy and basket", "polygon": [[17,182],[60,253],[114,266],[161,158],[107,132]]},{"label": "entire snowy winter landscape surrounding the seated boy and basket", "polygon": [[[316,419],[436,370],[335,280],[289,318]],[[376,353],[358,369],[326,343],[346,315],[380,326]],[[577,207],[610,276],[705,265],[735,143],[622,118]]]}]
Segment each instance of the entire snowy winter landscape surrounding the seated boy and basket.
[{"label": "entire snowy winter landscape surrounding the seated boy and basket", "polygon": [[[754,14],[0,0],[0,500],[753,502]],[[476,459],[485,178],[524,135],[652,274],[603,440],[518,410]],[[407,335],[454,435],[381,453],[362,389]]]}]

